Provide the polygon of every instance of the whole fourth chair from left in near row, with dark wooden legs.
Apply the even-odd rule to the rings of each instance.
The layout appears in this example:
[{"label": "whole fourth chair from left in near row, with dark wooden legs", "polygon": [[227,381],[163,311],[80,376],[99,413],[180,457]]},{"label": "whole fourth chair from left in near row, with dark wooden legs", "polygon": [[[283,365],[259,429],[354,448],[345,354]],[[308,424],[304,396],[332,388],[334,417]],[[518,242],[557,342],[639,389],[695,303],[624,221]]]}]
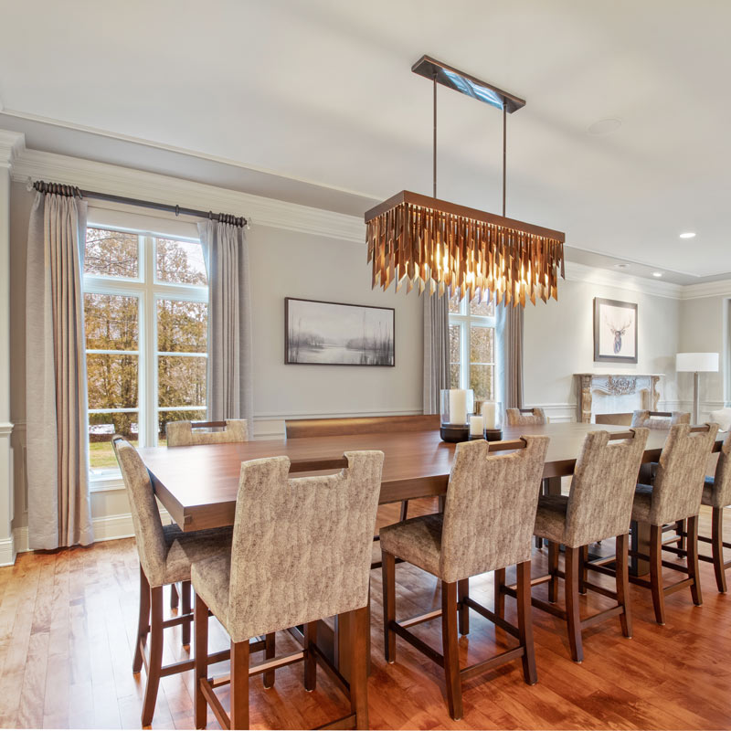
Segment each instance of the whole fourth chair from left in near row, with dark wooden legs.
[{"label": "whole fourth chair from left in near row, with dark wooden legs", "polygon": [[[691,427],[677,424],[670,428],[662,447],[660,462],[652,485],[640,484],[634,496],[632,521],[650,525],[650,555],[639,551],[631,553],[650,561],[650,581],[630,577],[630,581],[652,589],[655,620],[665,623],[665,594],[689,586],[694,604],[703,603],[698,575],[698,513],[705,486],[705,467],[714,448],[717,424]],[[669,565],[687,575],[682,581],[662,585],[662,526],[687,520],[687,546],[681,555],[687,555],[687,567]],[[635,526],[636,527],[636,526]]]}]

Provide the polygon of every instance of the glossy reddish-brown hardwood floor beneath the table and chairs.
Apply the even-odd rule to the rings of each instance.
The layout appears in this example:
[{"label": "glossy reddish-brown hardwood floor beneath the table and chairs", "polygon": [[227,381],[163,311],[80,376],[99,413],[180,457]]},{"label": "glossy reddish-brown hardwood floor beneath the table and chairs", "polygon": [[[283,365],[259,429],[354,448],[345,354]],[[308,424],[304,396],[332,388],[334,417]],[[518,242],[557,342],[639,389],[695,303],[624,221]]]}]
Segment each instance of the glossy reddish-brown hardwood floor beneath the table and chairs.
[{"label": "glossy reddish-brown hardwood floor beneath the table and chairs", "polygon": [[[409,514],[429,503],[409,504]],[[398,506],[382,511],[383,524],[397,520]],[[726,522],[729,540],[731,521]],[[701,531],[710,535],[710,513]],[[606,546],[605,546],[606,547]],[[707,550],[706,547],[702,550]],[[671,555],[664,556],[673,560]],[[547,553],[534,551],[533,573],[542,573]],[[562,559],[563,560],[563,557]],[[397,617],[439,606],[435,578],[399,564]],[[668,577],[670,578],[670,577]],[[674,577],[673,577],[674,578]],[[508,580],[514,575],[508,572]],[[594,577],[606,583],[609,577]],[[667,624],[655,624],[650,591],[630,588],[634,637],[622,637],[619,620],[584,633],[585,661],[571,662],[566,628],[534,609],[538,683],[523,682],[520,662],[464,684],[464,717],[450,719],[440,668],[406,642],[397,641],[397,661],[383,658],[381,576],[372,572],[372,666],[369,680],[372,728],[728,728],[731,726],[731,603],[715,590],[713,567],[701,565],[703,607],[690,591],[666,599]],[[133,728],[139,726],[144,673],[132,675],[137,617],[137,556],[132,539],[53,553],[23,554],[16,566],[0,568],[0,726]],[[546,585],[535,588],[546,598]],[[471,581],[471,594],[492,606],[493,577]],[[563,596],[561,584],[560,597]],[[562,600],[562,599],[561,599]],[[582,598],[582,611],[609,602]],[[168,610],[169,611],[169,610]],[[506,600],[509,620],[515,603]],[[226,638],[211,622],[210,647]],[[414,629],[440,645],[440,620]],[[183,659],[180,628],[167,630],[164,662]],[[286,633],[278,652],[295,649]],[[461,638],[461,664],[507,646],[503,631],[471,612],[471,633]],[[508,641],[509,642],[509,641]],[[223,671],[225,665],[222,664]],[[252,727],[312,728],[343,715],[345,702],[324,673],[305,693],[302,665],[277,673],[264,690],[251,682]],[[485,682],[487,681],[487,682]],[[154,727],[193,727],[193,673],[164,678]],[[228,698],[223,696],[228,707]],[[208,727],[217,728],[213,715]]]}]

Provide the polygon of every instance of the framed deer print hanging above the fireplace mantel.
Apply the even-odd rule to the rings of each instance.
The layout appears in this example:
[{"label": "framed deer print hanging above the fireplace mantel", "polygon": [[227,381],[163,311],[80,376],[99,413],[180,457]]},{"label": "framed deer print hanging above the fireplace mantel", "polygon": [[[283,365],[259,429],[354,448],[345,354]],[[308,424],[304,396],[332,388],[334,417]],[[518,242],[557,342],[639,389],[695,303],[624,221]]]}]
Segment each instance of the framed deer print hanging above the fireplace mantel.
[{"label": "framed deer print hanging above the fireplace mantel", "polygon": [[594,298],[594,361],[637,363],[637,303]]}]

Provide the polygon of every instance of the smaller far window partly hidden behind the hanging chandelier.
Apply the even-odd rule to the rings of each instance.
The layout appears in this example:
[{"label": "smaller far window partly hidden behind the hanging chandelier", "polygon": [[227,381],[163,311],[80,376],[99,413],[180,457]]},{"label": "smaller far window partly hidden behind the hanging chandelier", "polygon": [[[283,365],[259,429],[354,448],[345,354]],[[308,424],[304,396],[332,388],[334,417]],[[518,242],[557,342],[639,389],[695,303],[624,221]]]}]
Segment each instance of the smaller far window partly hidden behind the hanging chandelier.
[{"label": "smaller far window partly hidden behind the hanging chandelier", "polygon": [[495,398],[495,303],[450,300],[450,387]]}]

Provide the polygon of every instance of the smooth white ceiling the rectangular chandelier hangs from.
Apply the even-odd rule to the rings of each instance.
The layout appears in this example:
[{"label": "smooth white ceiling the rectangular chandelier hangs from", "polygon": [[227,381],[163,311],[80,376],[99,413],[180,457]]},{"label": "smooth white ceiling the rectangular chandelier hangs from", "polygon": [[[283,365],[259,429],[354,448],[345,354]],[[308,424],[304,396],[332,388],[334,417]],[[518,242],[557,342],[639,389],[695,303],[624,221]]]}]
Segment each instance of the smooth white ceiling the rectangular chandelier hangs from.
[{"label": "smooth white ceiling the rectangular chandelier hangs from", "polygon": [[[38,122],[63,122],[111,135],[96,159],[132,138],[362,213],[430,193],[431,88],[410,72],[427,53],[527,101],[509,216],[698,281],[731,272],[729,27],[726,0],[0,0],[0,101],[40,147]],[[440,87],[440,197],[499,212],[501,125]]]}]

